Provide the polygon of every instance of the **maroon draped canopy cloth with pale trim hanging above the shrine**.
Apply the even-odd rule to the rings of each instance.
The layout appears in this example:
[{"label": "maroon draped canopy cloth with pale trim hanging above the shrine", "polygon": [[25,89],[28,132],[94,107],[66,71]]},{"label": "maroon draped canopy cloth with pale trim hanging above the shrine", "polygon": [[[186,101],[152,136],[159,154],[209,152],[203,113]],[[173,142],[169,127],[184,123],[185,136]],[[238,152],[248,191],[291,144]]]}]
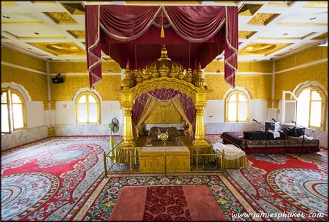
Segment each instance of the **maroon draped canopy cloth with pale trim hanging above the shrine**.
[{"label": "maroon draped canopy cloth with pale trim hanging above the shrine", "polygon": [[[165,36],[161,37],[161,27]],[[225,49],[225,79],[235,86],[237,70],[236,6],[87,5],[85,11],[87,67],[90,86],[101,80],[101,51],[124,68],[143,68],[168,56],[185,68],[205,68]]]}]

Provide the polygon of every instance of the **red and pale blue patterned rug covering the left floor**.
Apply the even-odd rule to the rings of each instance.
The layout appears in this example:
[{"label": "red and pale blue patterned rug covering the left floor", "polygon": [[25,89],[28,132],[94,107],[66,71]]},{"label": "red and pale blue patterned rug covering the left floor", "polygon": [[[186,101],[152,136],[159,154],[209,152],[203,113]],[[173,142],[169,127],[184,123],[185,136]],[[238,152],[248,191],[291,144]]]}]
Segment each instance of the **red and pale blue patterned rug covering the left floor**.
[{"label": "red and pale blue patterned rug covering the left floor", "polygon": [[1,220],[71,219],[103,178],[108,141],[55,137],[1,153]]}]

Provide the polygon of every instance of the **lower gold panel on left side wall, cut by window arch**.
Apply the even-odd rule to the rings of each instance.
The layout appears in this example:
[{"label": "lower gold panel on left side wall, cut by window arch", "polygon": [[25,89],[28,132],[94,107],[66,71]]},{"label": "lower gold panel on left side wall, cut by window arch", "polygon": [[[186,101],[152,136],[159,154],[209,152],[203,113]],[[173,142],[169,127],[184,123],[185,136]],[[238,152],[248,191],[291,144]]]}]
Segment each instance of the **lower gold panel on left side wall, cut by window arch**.
[{"label": "lower gold panel on left side wall, cut by window arch", "polygon": [[47,101],[47,76],[31,71],[1,65],[1,83],[22,85],[33,101]]}]

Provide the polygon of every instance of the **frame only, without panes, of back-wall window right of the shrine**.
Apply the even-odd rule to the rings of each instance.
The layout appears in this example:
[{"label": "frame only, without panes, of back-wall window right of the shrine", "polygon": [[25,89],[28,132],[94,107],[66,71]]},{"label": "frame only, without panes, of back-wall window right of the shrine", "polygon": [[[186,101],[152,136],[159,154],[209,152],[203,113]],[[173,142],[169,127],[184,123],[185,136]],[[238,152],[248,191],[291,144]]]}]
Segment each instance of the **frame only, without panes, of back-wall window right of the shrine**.
[{"label": "frame only, without panes, of back-wall window right of the shrine", "polygon": [[[228,120],[228,100],[230,99],[230,96],[233,96],[233,94],[236,94],[236,101],[235,101],[235,108],[237,110],[236,112],[236,120],[235,121],[229,121]],[[239,120],[239,94],[242,94],[244,98],[246,99],[246,120]],[[247,123],[249,121],[249,98],[246,92],[243,92],[242,90],[235,89],[228,93],[225,99],[225,122],[226,123]]]}]

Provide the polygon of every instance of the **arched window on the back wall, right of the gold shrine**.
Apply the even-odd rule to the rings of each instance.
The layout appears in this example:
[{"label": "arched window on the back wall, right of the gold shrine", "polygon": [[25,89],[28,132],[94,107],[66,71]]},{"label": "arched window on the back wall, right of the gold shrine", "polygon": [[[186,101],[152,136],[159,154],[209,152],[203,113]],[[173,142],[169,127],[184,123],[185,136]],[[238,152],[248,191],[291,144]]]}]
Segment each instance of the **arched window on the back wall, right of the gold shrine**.
[{"label": "arched window on the back wall, right of the gold shrine", "polygon": [[232,91],[225,100],[226,122],[248,121],[248,96],[240,90]]}]

